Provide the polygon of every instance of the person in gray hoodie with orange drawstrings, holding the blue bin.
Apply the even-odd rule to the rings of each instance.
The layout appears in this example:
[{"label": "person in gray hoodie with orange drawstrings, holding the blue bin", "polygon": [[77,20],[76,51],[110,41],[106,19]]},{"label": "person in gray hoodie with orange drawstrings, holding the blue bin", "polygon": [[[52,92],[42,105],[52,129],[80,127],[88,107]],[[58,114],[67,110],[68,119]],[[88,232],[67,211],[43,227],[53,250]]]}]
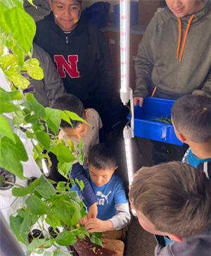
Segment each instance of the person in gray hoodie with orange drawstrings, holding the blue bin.
[{"label": "person in gray hoodie with orange drawstrings, holding the blue bin", "polygon": [[[166,0],[139,44],[134,105],[147,96],[178,99],[211,97],[211,0]],[[170,145],[153,143],[153,161],[168,161]],[[177,161],[186,148],[175,147]]]}]

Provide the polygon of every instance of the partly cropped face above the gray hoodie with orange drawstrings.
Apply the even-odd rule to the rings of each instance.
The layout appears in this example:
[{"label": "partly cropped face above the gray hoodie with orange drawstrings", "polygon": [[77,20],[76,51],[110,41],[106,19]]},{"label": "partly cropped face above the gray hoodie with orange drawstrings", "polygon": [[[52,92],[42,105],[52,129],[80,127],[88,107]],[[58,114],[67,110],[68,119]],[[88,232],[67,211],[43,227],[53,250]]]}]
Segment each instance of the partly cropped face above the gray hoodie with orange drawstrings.
[{"label": "partly cropped face above the gray hoodie with orange drawstrings", "polygon": [[168,8],[176,17],[182,18],[186,15],[196,13],[203,8],[202,0],[165,0]]}]

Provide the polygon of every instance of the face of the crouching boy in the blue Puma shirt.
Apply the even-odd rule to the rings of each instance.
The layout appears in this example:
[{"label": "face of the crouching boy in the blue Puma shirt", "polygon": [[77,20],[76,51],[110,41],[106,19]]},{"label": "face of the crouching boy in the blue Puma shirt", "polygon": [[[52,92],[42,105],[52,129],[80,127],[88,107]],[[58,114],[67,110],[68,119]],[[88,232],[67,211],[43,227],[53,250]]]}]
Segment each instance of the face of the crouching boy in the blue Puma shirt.
[{"label": "face of the crouching boy in the blue Puma shirt", "polygon": [[95,183],[98,187],[102,187],[102,185],[107,184],[110,181],[110,178],[113,176],[116,166],[114,169],[106,169],[106,170],[99,170],[96,169],[93,165],[89,164],[89,175],[91,181]]}]

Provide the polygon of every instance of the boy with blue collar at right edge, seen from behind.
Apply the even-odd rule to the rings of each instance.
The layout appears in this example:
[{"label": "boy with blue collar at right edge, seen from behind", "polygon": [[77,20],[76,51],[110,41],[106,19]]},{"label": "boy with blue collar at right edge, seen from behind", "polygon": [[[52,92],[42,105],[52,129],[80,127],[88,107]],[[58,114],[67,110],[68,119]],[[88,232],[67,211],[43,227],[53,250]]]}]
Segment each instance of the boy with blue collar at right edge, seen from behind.
[{"label": "boy with blue collar at right edge, seen from behind", "polygon": [[172,124],[177,138],[190,146],[182,161],[211,178],[211,99],[202,95],[177,99]]}]

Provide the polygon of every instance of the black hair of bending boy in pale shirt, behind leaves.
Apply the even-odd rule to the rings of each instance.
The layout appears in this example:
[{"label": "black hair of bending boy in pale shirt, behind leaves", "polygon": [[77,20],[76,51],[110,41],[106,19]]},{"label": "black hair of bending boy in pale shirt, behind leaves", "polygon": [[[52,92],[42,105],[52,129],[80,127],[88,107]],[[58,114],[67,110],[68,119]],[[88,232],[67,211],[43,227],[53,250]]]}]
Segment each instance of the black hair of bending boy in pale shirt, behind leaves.
[{"label": "black hair of bending boy in pale shirt, behind leaves", "polygon": [[[75,95],[61,95],[60,97],[53,100],[51,104],[52,109],[60,109],[62,111],[68,110],[70,112],[74,112],[77,114],[80,118],[85,118],[86,113],[84,109],[84,105],[82,102],[75,96]],[[60,122],[61,128],[76,128],[78,127],[82,122],[81,121],[74,121],[70,119],[72,126],[70,126],[70,123],[67,123],[63,119]]]}]

